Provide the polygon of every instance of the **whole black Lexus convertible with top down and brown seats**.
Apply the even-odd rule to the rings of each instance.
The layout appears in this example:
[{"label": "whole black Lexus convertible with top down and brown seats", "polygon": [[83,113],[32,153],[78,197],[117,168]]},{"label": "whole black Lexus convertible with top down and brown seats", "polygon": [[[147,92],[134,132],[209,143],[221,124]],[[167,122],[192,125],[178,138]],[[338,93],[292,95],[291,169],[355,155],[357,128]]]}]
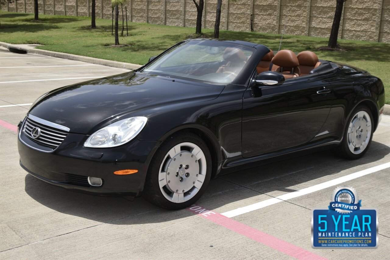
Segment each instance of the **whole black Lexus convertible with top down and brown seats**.
[{"label": "whole black Lexus convertible with top down and brown seats", "polygon": [[181,209],[222,173],[324,149],[360,158],[384,103],[379,78],[311,51],[187,40],[41,96],[19,124],[20,164],[67,189]]}]

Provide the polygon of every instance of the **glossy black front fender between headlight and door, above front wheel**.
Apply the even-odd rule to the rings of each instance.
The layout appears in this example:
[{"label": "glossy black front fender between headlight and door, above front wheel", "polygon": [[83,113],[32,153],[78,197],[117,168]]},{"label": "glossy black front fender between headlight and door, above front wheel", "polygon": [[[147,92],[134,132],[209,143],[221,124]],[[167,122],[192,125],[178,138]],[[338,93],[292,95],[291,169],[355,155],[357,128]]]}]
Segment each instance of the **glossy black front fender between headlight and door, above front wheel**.
[{"label": "glossy black front fender between headlight and door, above front wheel", "polygon": [[138,136],[143,141],[158,141],[188,129],[205,137],[213,146],[216,160],[241,156],[242,95],[245,88],[227,85],[214,100],[199,103],[170,104],[149,111],[145,129]]}]

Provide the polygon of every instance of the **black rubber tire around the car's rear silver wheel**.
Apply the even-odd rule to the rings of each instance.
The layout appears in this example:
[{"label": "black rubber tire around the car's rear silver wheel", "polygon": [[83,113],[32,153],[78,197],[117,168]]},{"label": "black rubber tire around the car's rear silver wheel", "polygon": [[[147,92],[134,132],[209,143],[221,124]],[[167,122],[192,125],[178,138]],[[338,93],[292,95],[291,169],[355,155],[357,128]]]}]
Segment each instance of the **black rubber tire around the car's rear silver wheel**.
[{"label": "black rubber tire around the car's rear silver wheel", "polygon": [[[358,113],[361,113],[364,116],[359,118],[359,116],[357,116]],[[367,120],[367,117],[369,118],[369,120]],[[359,122],[359,120],[361,120],[361,122]],[[369,123],[369,124],[367,124],[367,123]],[[365,129],[364,124],[367,126],[367,129]],[[355,126],[355,128],[351,129],[350,128],[351,125],[353,127]],[[358,130],[359,130],[360,126],[363,126],[362,129],[360,129],[360,130],[364,131],[364,132],[367,130],[367,132],[365,132],[367,134],[365,134],[365,135],[363,134],[363,135],[361,135],[362,136],[361,138],[358,138],[357,136],[358,136]],[[368,134],[368,131],[370,131],[369,134]],[[352,111],[351,116],[349,117],[349,119],[347,121],[342,142],[340,143],[339,147],[337,147],[333,152],[336,155],[344,157],[346,159],[352,159],[352,160],[359,159],[369,149],[369,147],[371,145],[373,133],[374,133],[374,121],[373,121],[371,110],[369,108],[367,108],[366,106],[357,106]],[[355,135],[356,138],[353,135]],[[367,137],[369,137],[368,141],[366,141]],[[353,139],[351,139],[351,138],[353,138]],[[354,145],[352,143],[354,140],[357,141],[358,143],[362,142],[362,145],[360,147],[355,147],[354,148],[355,150],[352,151],[353,146],[351,146],[351,145]]]}]

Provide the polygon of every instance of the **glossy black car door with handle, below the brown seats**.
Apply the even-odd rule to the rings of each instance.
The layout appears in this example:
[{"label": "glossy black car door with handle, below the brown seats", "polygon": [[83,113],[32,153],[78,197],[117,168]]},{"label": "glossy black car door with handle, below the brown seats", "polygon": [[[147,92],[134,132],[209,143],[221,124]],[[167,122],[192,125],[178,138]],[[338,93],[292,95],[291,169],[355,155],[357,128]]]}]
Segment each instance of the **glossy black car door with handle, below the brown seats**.
[{"label": "glossy black car door with handle, below the brown seats", "polygon": [[318,74],[276,86],[256,86],[252,81],[243,96],[243,157],[308,143],[324,125],[333,99],[330,83]]}]

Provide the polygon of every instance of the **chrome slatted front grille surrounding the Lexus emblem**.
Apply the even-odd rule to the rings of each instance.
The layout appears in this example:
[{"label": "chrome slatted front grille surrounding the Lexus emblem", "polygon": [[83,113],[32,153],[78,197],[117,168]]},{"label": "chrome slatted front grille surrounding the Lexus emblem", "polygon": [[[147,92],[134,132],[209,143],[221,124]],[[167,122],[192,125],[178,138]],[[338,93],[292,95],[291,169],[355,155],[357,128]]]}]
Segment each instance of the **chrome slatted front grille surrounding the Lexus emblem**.
[{"label": "chrome slatted front grille surrounding the Lexus emblem", "polygon": [[[40,129],[40,135],[36,138],[33,137],[32,133],[35,127],[38,127]],[[34,120],[29,119],[28,117],[25,121],[23,131],[25,132],[25,135],[31,140],[51,148],[57,148],[58,145],[60,145],[62,141],[64,141],[65,137],[68,134],[67,131],[50,126],[45,126],[44,124],[39,124]]]}]

